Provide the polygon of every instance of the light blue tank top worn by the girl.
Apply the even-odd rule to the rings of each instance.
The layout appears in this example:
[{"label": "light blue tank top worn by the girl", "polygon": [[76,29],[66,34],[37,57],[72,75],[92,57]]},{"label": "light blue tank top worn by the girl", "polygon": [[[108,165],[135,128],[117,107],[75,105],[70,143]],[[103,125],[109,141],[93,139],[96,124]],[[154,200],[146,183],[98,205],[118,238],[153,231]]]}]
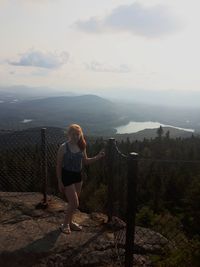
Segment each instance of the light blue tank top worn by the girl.
[{"label": "light blue tank top worn by the girl", "polygon": [[80,172],[82,170],[82,158],[83,152],[71,152],[68,146],[68,142],[65,142],[65,152],[63,159],[63,168],[65,170]]}]

